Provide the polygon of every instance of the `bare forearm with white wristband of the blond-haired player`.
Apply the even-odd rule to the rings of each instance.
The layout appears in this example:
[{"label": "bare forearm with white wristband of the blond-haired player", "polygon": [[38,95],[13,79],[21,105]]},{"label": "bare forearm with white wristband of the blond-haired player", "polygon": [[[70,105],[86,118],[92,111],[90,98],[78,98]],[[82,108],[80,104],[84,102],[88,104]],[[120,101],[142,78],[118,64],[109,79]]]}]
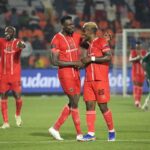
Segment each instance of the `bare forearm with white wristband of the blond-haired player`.
[{"label": "bare forearm with white wristband of the blond-haired player", "polygon": [[103,56],[95,57],[95,56],[87,56],[81,59],[82,63],[89,64],[89,63],[105,63],[110,62],[112,59],[111,52],[105,52]]}]

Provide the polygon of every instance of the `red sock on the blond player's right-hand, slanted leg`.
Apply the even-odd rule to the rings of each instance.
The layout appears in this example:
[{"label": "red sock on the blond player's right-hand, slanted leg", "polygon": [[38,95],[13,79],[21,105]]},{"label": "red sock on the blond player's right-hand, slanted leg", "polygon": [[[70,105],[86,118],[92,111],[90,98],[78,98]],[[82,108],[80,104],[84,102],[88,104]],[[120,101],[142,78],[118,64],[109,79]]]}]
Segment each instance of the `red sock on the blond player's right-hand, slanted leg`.
[{"label": "red sock on the blond player's right-hand, slanted leg", "polygon": [[110,110],[108,110],[107,112],[105,112],[103,114],[103,117],[105,119],[105,122],[107,124],[107,127],[109,130],[114,130],[114,124],[113,124],[113,118],[112,118],[112,113]]}]

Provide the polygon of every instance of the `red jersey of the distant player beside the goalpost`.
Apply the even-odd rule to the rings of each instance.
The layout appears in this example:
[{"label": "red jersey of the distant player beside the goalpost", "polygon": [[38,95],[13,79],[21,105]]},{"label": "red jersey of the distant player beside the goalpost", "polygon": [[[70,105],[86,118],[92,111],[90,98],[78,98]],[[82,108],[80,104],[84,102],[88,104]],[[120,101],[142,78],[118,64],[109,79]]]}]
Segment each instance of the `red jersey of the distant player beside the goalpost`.
[{"label": "red jersey of the distant player beside the goalpost", "polygon": [[[147,51],[142,49],[139,52],[137,50],[132,50],[130,53],[130,57],[134,58],[137,57],[138,55],[141,55],[144,57],[146,55]],[[140,78],[144,77],[144,70],[142,67],[142,64],[140,61],[132,62],[132,78],[136,78],[137,76],[140,76]]]}]

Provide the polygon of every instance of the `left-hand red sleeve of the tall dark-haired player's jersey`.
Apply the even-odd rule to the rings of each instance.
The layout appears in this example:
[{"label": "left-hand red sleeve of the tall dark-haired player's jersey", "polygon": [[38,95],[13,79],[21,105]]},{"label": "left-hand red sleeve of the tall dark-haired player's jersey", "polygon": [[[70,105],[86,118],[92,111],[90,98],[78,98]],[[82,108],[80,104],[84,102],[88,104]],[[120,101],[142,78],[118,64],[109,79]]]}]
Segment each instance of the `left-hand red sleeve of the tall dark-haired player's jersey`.
[{"label": "left-hand red sleeve of the tall dark-haired player's jersey", "polygon": [[50,43],[50,48],[51,51],[54,53],[58,53],[59,50],[59,38],[58,36],[54,36],[54,38],[52,39],[51,43]]}]

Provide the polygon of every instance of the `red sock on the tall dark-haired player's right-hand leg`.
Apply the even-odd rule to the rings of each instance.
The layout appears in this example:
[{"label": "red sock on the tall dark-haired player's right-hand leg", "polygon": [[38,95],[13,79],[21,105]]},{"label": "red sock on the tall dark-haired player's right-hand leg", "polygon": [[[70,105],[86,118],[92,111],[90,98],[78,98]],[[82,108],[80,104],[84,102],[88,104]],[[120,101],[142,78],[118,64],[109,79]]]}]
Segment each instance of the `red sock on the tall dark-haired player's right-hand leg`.
[{"label": "red sock on the tall dark-haired player's right-hand leg", "polygon": [[80,127],[80,116],[79,116],[79,110],[76,108],[72,108],[71,109],[71,115],[72,115],[72,119],[77,131],[77,134],[82,134],[81,132],[81,127]]}]

